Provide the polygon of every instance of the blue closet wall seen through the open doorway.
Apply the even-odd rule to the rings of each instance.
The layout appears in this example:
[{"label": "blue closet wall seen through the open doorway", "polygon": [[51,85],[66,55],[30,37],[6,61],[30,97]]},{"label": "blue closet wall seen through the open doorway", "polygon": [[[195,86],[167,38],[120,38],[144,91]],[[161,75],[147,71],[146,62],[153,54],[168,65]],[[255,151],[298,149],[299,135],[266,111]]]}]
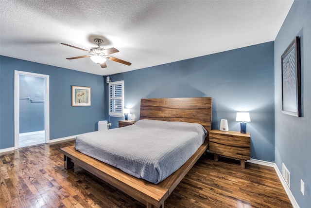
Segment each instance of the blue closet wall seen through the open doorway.
[{"label": "blue closet wall seen through the open doorway", "polygon": [[45,80],[42,77],[19,75],[19,133],[44,131]]}]

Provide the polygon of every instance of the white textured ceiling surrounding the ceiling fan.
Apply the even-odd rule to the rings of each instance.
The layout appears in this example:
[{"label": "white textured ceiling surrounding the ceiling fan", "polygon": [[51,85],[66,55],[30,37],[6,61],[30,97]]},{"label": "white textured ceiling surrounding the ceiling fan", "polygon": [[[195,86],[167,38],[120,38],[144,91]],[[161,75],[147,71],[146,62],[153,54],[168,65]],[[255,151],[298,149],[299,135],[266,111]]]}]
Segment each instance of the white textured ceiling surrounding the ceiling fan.
[{"label": "white textured ceiling surrounding the ceiling fan", "polygon": [[[111,75],[273,41],[293,0],[1,0],[0,55]],[[94,38],[111,56],[87,55]]]}]

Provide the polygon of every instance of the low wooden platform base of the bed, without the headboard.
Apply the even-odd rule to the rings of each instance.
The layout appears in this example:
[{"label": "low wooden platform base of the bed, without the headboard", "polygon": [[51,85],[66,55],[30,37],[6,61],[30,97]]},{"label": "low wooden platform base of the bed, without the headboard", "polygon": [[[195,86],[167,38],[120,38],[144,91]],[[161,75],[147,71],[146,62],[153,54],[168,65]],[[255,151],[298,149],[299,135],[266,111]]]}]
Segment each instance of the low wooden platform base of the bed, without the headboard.
[{"label": "low wooden platform base of the bed, without the headboard", "polygon": [[190,157],[190,159],[159,184],[153,184],[143,179],[131,176],[120,169],[89,157],[74,149],[74,146],[60,149],[64,154],[65,169],[74,164],[101,178],[111,186],[145,204],[147,208],[164,208],[164,201],[173,192],[179,182],[185,177],[200,156],[207,150],[208,140]]}]

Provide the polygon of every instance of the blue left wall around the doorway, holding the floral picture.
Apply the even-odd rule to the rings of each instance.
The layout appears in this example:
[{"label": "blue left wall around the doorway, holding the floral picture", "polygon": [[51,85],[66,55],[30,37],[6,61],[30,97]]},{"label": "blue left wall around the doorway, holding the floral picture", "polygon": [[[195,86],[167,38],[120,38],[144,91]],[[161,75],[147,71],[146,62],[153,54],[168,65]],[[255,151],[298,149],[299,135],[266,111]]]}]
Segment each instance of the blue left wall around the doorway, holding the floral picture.
[{"label": "blue left wall around the doorway, holding the floral picture", "polygon": [[[96,131],[105,120],[103,76],[0,56],[0,149],[14,147],[14,70],[50,76],[51,140]],[[71,85],[91,87],[91,106],[71,106]]]}]

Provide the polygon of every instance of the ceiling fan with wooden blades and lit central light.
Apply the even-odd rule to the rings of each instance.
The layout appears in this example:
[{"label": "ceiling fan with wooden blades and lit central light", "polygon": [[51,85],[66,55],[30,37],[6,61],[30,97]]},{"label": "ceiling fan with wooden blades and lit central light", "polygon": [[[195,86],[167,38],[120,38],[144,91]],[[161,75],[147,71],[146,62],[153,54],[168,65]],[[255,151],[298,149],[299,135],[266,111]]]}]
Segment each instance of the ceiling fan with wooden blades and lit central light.
[{"label": "ceiling fan with wooden blades and lit central light", "polygon": [[82,51],[85,51],[85,52],[88,52],[88,53],[91,54],[91,55],[85,55],[85,56],[80,56],[80,57],[66,58],[66,59],[69,59],[69,60],[70,59],[76,59],[76,58],[90,57],[94,63],[97,63],[97,64],[101,65],[102,68],[107,67],[107,65],[106,65],[106,60],[107,59],[108,60],[112,60],[112,61],[116,61],[116,62],[119,62],[119,63],[122,63],[122,64],[125,64],[125,65],[128,65],[128,66],[130,66],[132,64],[130,62],[121,60],[119,58],[108,56],[110,54],[119,52],[119,50],[116,49],[116,48],[108,48],[108,49],[101,48],[100,46],[104,42],[102,39],[95,38],[94,42],[97,45],[97,47],[92,47],[89,51],[85,50],[85,49],[82,49],[82,48],[78,48],[78,47],[69,45],[69,44],[66,44],[66,43],[61,43],[61,44],[67,45],[69,47],[76,48],[76,49],[79,49],[79,50],[82,50]]}]

